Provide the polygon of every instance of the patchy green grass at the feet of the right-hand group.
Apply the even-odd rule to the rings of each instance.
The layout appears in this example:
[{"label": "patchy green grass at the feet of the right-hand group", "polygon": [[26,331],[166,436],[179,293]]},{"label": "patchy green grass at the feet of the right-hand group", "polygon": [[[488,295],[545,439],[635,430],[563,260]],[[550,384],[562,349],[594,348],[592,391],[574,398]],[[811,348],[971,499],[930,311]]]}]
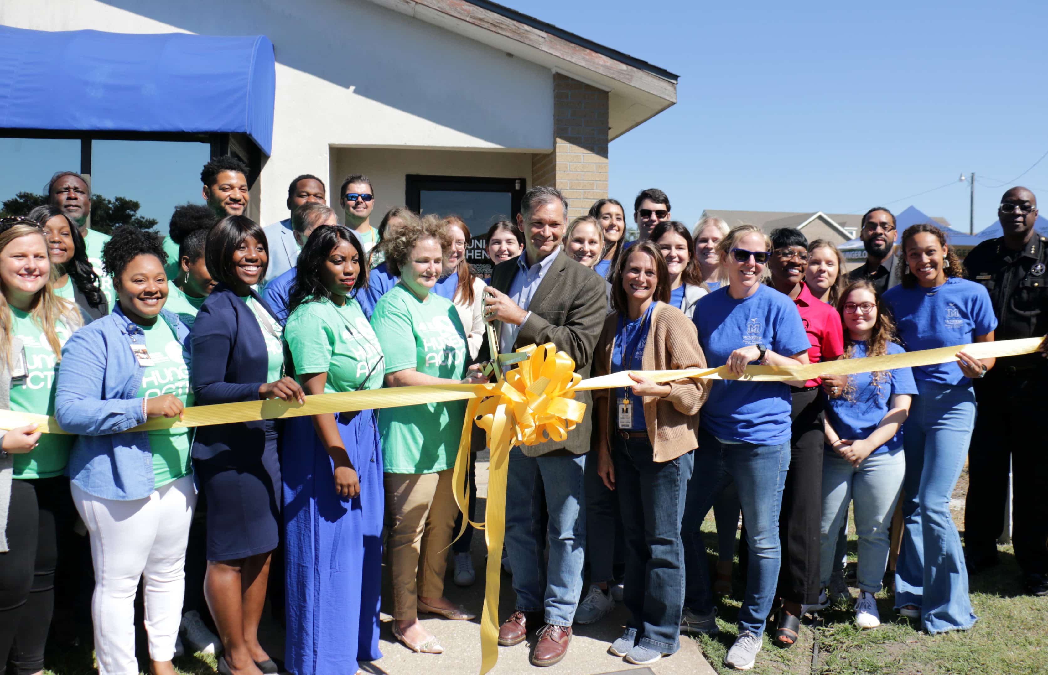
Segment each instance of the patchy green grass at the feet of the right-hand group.
[{"label": "patchy green grass at the feet of the right-hand group", "polygon": [[[712,517],[703,523],[707,549],[716,546]],[[1048,598],[1024,595],[1010,546],[1001,546],[1001,565],[971,576],[971,606],[979,620],[968,631],[929,635],[919,622],[898,616],[890,594],[877,595],[882,625],[860,630],[854,608],[842,600],[822,620],[806,622],[798,644],[781,650],[765,633],[754,673],[812,675],[1040,675],[1048,674]],[[849,560],[855,561],[854,535]],[[737,592],[741,590],[736,583]],[[740,603],[723,598],[717,619],[721,634],[703,636],[700,647],[718,673],[735,673],[722,661],[737,635]],[[812,663],[817,640],[817,661]]]}]

